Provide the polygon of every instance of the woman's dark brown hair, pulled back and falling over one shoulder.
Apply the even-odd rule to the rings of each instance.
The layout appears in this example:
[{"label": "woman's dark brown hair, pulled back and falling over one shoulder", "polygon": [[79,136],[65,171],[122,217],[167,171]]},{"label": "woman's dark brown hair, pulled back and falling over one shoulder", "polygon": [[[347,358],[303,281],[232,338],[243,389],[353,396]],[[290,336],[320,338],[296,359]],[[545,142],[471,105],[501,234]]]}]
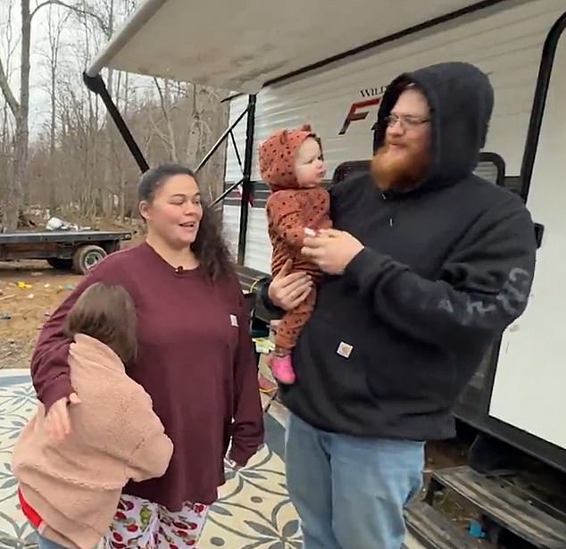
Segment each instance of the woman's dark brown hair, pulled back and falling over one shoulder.
[{"label": "woman's dark brown hair, pulled back and falling over one shoulder", "polygon": [[[137,183],[137,198],[151,203],[155,191],[165,181],[176,176],[187,175],[196,180],[195,172],[180,164],[161,164],[146,171]],[[225,277],[232,278],[234,270],[229,249],[221,235],[218,216],[203,204],[203,218],[200,221],[196,239],[191,250],[198,259],[206,276],[212,281]]]}]

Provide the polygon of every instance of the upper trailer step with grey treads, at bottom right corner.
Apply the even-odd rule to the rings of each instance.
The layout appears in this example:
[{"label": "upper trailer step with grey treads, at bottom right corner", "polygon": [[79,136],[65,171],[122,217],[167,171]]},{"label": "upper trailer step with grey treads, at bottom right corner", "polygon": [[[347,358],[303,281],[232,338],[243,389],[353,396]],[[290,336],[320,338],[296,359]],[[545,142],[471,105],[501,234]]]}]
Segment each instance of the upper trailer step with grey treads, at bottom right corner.
[{"label": "upper trailer step with grey treads, at bottom right corner", "polygon": [[497,531],[503,528],[540,549],[566,549],[566,523],[537,509],[498,482],[495,475],[479,474],[468,466],[437,470],[432,473],[428,500],[442,487],[475,505],[491,520]]}]

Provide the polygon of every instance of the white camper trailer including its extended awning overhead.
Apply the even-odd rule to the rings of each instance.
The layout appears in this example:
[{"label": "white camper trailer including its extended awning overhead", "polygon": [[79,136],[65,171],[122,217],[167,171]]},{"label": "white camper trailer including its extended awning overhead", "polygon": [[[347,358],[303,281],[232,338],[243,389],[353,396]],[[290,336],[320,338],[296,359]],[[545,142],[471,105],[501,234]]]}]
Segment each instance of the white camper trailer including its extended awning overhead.
[{"label": "white camper trailer including its extended awning overhead", "polygon": [[[202,24],[191,24],[196,19]],[[268,190],[256,160],[262,139],[310,122],[331,184],[369,160],[380,97],[398,73],[445,61],[472,62],[487,72],[495,111],[477,172],[526,200],[539,249],[527,311],[486,357],[455,413],[566,472],[565,28],[565,0],[246,0],[232,9],[220,0],[146,0],[85,81],[103,98],[142,170],[143,155],[100,77],[104,67],[234,92],[223,137],[233,137],[236,148],[228,146],[219,198],[224,231],[249,288],[268,276],[271,261]],[[454,478],[445,484],[457,490]],[[495,522],[503,521],[500,515],[491,510]],[[525,538],[534,544],[554,539],[535,546],[566,547],[563,525],[552,523],[553,538],[540,524],[540,531],[529,526],[538,538],[532,532]]]}]

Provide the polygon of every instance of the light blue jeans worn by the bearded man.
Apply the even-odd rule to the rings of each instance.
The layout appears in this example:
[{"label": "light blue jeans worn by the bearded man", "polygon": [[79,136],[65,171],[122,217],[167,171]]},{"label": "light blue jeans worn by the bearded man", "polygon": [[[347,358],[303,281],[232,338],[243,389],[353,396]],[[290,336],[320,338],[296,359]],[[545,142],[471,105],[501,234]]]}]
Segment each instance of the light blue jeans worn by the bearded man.
[{"label": "light blue jeans worn by the bearded man", "polygon": [[401,549],[423,466],[422,442],[326,433],[291,414],[287,489],[304,549]]}]

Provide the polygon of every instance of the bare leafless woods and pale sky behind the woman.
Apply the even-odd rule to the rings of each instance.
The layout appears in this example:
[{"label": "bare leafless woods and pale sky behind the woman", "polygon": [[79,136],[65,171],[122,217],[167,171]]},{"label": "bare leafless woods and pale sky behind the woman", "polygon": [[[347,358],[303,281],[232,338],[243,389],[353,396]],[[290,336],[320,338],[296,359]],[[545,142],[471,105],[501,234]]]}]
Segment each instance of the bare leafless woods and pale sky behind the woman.
[{"label": "bare leafless woods and pale sky behind the woman", "polygon": [[[139,168],[82,71],[138,2],[1,0],[3,231],[30,209],[83,224],[137,214]],[[225,90],[111,70],[103,78],[150,166],[195,168],[227,128]],[[34,87],[46,98],[39,105]],[[199,172],[209,199],[221,194],[224,155],[221,146]]]}]

